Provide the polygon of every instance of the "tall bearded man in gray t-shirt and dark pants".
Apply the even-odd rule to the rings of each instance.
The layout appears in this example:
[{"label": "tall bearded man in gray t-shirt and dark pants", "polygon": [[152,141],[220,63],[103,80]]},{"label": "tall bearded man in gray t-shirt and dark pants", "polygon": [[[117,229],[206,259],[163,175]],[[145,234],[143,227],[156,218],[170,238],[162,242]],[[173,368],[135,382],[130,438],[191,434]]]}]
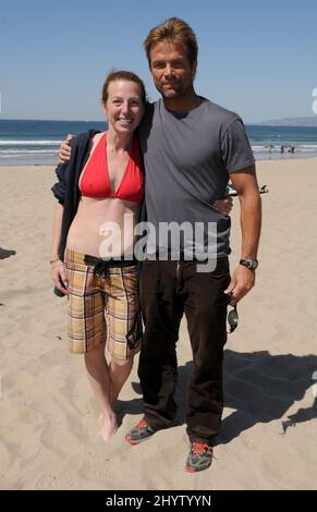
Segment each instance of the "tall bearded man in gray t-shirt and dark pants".
[{"label": "tall bearded man in gray t-shirt and dark pants", "polygon": [[[260,198],[241,119],[194,90],[197,41],[192,28],[182,20],[169,19],[149,32],[144,48],[161,94],[139,126],[147,221],[156,237],[149,241],[151,258],[144,261],[141,275],[145,332],[138,376],[145,414],[125,439],[138,444],[173,424],[175,344],[185,313],[193,350],[186,400],[191,441],[186,471],[197,472],[211,464],[220,430],[227,306],[230,301],[240,301],[255,283]],[[231,278],[230,218],[210,206],[224,195],[229,175],[240,197],[242,230],[241,260]],[[158,233],[171,221],[176,225],[203,224],[203,245],[186,236],[178,244],[173,237],[162,240]],[[210,222],[217,227],[211,252]],[[204,255],[210,259],[210,254],[214,269],[209,260],[199,270],[203,264],[198,260]]]}]

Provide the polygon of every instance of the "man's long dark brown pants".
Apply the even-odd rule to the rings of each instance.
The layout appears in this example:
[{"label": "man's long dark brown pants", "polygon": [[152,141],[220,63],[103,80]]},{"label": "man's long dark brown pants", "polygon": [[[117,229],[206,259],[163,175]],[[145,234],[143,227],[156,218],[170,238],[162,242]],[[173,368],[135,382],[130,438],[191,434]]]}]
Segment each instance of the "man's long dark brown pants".
[{"label": "man's long dark brown pants", "polygon": [[146,260],[141,273],[141,305],[145,333],[138,376],[145,419],[155,429],[173,424],[178,361],[175,345],[183,313],[187,319],[193,365],[186,394],[191,441],[212,442],[223,409],[222,359],[230,282],[228,258],[211,272],[197,271],[196,261]]}]

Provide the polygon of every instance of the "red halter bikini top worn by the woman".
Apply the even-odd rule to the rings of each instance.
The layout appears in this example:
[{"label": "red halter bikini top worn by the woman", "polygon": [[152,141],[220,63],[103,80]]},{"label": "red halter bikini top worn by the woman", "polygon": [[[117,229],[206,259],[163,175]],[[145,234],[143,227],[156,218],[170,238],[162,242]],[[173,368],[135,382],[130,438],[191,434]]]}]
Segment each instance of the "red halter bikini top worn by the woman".
[{"label": "red halter bikini top worn by the woman", "polygon": [[100,137],[85,170],[80,179],[80,191],[88,197],[118,197],[119,199],[142,203],[144,198],[143,162],[139,144],[133,137],[132,150],[129,157],[121,183],[112,191],[107,164],[107,132]]}]

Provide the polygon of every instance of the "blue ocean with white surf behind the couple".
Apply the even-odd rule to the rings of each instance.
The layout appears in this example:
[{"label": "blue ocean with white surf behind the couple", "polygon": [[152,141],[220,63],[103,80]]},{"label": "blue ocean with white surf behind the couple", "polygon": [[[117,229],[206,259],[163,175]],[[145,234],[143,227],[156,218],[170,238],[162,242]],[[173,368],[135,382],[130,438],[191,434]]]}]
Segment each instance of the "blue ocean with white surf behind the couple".
[{"label": "blue ocean with white surf behind the couple", "polygon": [[[257,160],[317,157],[316,126],[245,127]],[[102,131],[105,122],[0,120],[0,166],[56,164],[66,134],[89,129]]]}]

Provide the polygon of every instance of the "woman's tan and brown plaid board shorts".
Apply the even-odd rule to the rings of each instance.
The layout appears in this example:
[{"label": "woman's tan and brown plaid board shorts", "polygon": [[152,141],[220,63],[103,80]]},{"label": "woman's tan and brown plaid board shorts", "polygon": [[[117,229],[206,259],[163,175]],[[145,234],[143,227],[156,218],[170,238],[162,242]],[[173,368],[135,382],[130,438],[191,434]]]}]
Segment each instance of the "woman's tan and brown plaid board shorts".
[{"label": "woman's tan and brown plaid board shorts", "polygon": [[85,257],[65,251],[69,349],[83,354],[107,342],[111,356],[127,359],[142,341],[137,267],[111,267],[103,277]]}]

